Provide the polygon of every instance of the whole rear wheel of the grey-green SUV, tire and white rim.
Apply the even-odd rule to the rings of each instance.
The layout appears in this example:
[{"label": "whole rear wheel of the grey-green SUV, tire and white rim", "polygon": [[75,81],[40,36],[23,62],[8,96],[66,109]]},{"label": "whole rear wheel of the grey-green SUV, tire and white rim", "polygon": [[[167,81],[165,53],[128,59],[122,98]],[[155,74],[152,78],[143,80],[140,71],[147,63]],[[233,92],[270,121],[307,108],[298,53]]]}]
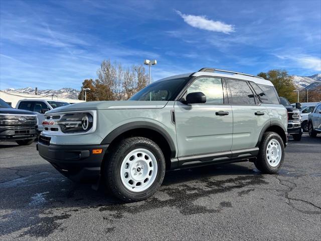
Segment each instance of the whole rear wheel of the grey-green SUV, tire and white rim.
[{"label": "whole rear wheel of the grey-green SUV, tire and white rim", "polygon": [[275,132],[266,132],[259,145],[259,154],[255,167],[263,173],[274,174],[280,169],[284,160],[284,144]]}]

